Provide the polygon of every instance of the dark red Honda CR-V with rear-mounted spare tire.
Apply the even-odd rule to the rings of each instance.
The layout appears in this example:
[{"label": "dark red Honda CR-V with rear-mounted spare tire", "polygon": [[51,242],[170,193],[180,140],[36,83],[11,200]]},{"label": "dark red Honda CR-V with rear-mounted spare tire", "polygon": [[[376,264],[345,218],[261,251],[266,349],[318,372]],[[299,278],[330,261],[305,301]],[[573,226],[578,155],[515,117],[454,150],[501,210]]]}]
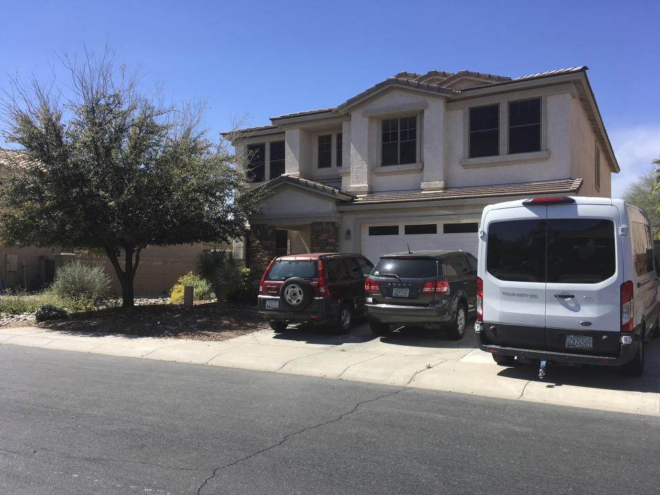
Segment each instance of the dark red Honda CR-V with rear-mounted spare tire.
[{"label": "dark red Honda CR-V with rear-mounted spare tire", "polygon": [[364,315],[364,279],[372,268],[362,254],[277,256],[259,283],[259,314],[275,331],[305,322],[347,333],[353,315]]}]

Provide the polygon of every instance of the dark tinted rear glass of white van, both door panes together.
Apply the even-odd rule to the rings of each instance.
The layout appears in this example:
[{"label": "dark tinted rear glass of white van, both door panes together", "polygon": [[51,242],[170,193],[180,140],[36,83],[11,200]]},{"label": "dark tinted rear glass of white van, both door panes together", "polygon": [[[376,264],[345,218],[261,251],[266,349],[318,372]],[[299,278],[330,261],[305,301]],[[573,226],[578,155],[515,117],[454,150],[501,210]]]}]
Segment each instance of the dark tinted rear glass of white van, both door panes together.
[{"label": "dark tinted rear glass of white van, both door panes together", "polygon": [[503,281],[598,283],[615,272],[614,223],[606,219],[494,222],[486,270]]}]

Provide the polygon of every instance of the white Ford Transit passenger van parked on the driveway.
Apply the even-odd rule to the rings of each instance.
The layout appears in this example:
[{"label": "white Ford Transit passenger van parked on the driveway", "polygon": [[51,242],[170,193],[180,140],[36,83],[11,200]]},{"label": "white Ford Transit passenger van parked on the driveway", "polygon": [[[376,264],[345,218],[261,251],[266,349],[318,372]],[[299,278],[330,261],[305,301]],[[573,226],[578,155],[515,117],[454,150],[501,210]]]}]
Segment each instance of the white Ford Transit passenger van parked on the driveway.
[{"label": "white Ford Transit passenger van parked on the driveway", "polygon": [[548,197],[489,205],[478,252],[480,349],[621,366],[640,376],[658,335],[658,275],[646,213],[621,199]]}]

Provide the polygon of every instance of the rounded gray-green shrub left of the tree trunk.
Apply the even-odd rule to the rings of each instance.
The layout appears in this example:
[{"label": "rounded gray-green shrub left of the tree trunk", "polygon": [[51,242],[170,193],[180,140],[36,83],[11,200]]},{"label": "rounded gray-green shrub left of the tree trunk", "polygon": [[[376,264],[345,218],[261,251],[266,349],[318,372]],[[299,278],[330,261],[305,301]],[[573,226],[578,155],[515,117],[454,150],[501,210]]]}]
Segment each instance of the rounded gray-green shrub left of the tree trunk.
[{"label": "rounded gray-green shrub left of the tree trunk", "polygon": [[50,292],[76,306],[94,306],[110,294],[110,277],[102,267],[76,260],[57,270]]}]

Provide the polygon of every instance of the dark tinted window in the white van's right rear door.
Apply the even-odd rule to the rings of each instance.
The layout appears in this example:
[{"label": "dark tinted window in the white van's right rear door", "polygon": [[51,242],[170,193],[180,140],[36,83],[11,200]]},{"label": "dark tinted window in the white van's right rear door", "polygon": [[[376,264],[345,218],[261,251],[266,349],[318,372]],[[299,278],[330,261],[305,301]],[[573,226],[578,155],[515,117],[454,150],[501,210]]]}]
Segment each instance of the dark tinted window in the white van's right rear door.
[{"label": "dark tinted window in the white van's right rear door", "polygon": [[598,283],[615,270],[613,221],[548,220],[548,282]]}]

